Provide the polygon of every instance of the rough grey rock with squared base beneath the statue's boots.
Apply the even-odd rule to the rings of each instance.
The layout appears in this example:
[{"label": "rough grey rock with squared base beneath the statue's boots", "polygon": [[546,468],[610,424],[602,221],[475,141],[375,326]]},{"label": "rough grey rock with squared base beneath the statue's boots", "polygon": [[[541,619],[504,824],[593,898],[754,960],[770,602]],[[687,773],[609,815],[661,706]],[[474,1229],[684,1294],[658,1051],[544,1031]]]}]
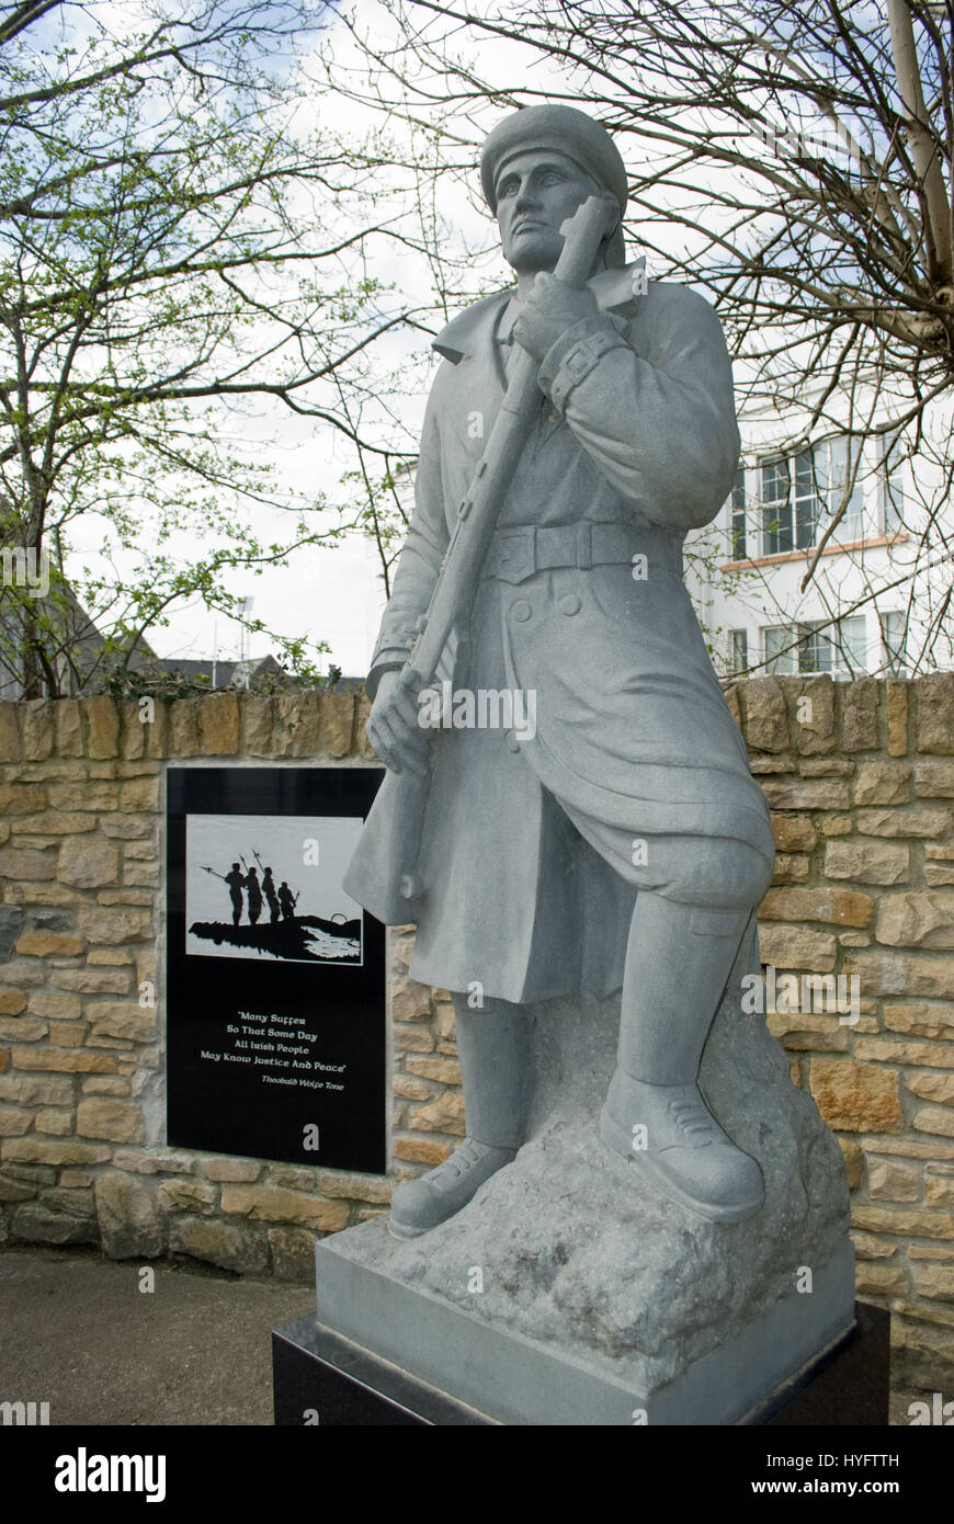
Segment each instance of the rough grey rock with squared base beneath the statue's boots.
[{"label": "rough grey rock with squared base beneath the statue's boots", "polygon": [[[674,960],[678,978],[678,949]],[[760,1212],[709,1222],[611,1155],[597,1119],[619,1003],[549,1001],[517,1160],[422,1237],[401,1242],[376,1218],[320,1242],[319,1323],[518,1425],[738,1423],[843,1340],[853,1254],[841,1151],[764,1017],[742,1010],[754,969],[750,936],[699,1084],[762,1167]]]}]

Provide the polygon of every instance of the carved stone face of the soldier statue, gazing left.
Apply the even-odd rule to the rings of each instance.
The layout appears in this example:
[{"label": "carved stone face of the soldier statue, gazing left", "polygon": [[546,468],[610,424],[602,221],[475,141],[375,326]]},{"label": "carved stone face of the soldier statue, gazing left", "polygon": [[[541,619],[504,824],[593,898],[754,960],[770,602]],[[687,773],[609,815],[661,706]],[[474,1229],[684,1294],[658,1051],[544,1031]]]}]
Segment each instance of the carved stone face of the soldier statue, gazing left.
[{"label": "carved stone face of the soldier statue, gazing left", "polygon": [[556,267],[564,245],[561,226],[599,192],[571,158],[541,149],[509,158],[495,189],[503,258],[518,274]]}]

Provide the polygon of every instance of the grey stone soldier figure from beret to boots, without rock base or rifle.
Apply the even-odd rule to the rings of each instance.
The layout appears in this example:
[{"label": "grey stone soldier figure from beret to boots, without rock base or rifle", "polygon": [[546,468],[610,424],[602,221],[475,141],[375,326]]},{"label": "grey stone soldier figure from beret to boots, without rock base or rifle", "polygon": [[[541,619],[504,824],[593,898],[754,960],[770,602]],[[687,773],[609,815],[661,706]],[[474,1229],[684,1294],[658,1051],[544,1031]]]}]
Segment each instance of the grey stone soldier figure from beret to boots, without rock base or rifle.
[{"label": "grey stone soldier figure from beret to boots, without rock base or rifle", "polygon": [[[539,1003],[620,988],[603,1143],[692,1212],[741,1221],[762,1205],[762,1173],[696,1081],[774,844],[681,578],[684,533],[712,521],[738,463],[732,367],[703,297],[634,280],[626,174],[599,123],[517,111],[480,172],[517,287],[434,341],[416,512],[367,680],[378,756],[430,770],[410,972],[453,994],[468,1135],[395,1190],[390,1227],[436,1227],[514,1160]],[[611,232],[573,290],[552,273],[559,229],[593,195]],[[532,692],[535,727],[425,728],[399,672],[515,346],[539,366],[539,410],[448,672],[454,692]],[[381,919],[410,919],[381,904],[369,828],[347,887]]]}]

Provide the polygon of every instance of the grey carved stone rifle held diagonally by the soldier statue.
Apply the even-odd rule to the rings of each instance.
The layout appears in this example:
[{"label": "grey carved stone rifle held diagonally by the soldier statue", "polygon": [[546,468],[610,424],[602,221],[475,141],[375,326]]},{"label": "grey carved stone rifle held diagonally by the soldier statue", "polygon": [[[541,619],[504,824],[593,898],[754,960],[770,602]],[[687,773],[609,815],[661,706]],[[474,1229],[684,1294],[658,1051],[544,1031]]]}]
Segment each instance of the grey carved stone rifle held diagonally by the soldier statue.
[{"label": "grey carved stone rifle held diagonally by the soldier statue", "polygon": [[[608,204],[602,197],[590,197],[573,216],[567,218],[561,227],[564,247],[553,271],[559,280],[576,290],[584,287],[607,226]],[[399,674],[401,684],[415,696],[434,681],[448,636],[477,588],[503,500],[539,407],[538,369],[533,355],[517,346],[500,411],[469,489],[457,509],[457,521],[427,614],[418,620],[415,645]],[[344,890],[390,925],[413,920],[413,904],[424,893],[418,855],[428,791],[430,773],[422,779],[407,770],[402,773],[389,770],[372,812],[375,831],[379,829],[383,818],[389,821],[384,882],[376,879],[373,890],[369,890],[361,872],[355,872],[352,878],[349,869],[344,875]],[[372,829],[372,820],[364,829]]]}]

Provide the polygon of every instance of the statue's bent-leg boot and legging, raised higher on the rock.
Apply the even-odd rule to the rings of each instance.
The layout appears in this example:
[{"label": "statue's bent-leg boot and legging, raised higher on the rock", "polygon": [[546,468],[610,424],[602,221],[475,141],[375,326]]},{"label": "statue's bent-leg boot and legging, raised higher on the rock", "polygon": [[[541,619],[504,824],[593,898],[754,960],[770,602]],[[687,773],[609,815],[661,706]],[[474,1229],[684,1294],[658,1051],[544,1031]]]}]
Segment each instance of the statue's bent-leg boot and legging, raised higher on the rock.
[{"label": "statue's bent-leg boot and legging, raised higher on the rock", "polygon": [[765,1199],[757,1163],[724,1132],[698,1088],[706,1038],[748,920],[748,911],[640,893],[617,1068],[599,1123],[603,1143],[645,1180],[716,1222],[741,1222]]}]

